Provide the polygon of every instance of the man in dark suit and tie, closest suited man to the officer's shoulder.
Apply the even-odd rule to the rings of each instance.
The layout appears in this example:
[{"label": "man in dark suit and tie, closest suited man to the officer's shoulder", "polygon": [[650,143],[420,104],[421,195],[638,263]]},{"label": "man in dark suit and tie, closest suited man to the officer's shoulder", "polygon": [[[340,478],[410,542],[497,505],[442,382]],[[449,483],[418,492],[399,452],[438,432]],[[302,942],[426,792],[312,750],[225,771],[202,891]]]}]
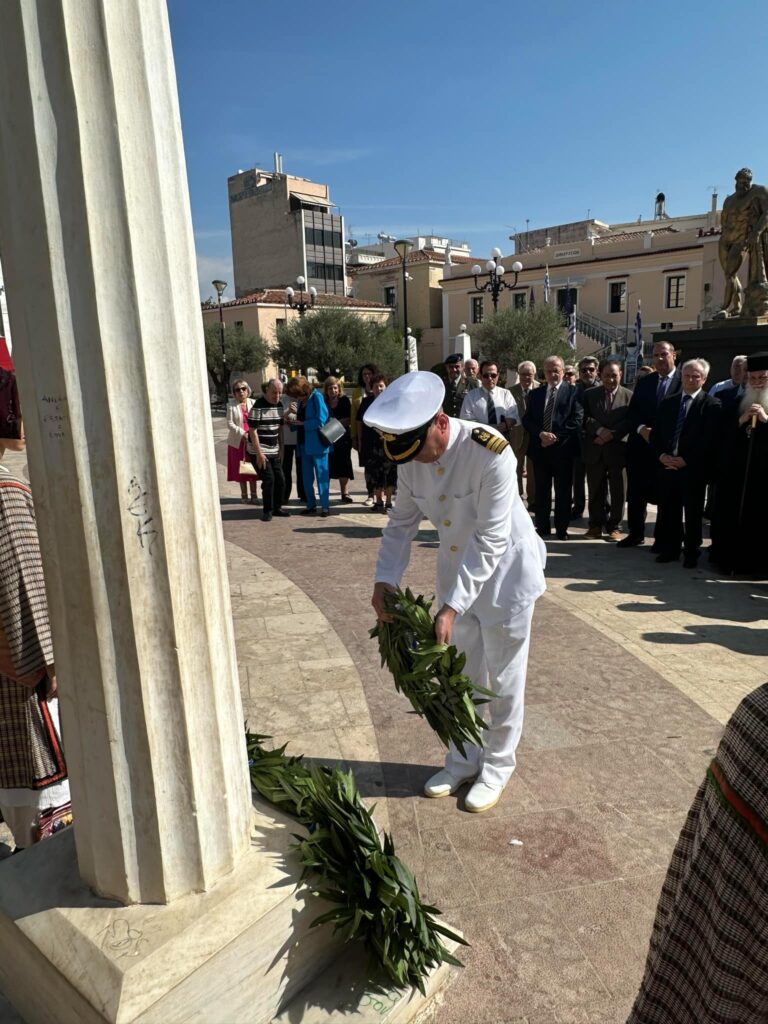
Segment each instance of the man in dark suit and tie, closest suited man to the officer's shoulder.
[{"label": "man in dark suit and tie, closest suited man to the officer's shoulder", "polygon": [[540,537],[550,534],[552,484],[555,487],[555,534],[567,541],[573,455],[584,409],[572,384],[563,381],[564,364],[550,355],[544,364],[547,387],[540,387],[528,399],[522,425],[528,432],[528,454],[536,472],[536,528]]}]

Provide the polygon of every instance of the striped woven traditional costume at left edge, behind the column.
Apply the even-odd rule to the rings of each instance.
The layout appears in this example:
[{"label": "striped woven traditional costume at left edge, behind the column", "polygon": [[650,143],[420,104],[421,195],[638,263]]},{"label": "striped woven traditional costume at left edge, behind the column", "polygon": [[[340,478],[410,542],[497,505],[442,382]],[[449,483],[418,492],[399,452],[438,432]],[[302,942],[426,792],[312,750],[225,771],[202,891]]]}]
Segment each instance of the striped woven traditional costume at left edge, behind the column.
[{"label": "striped woven traditional costume at left edge, behind the column", "polygon": [[[0,467],[0,810],[16,846],[34,842],[41,814],[70,802],[58,700],[46,699],[53,664],[40,548],[29,485]],[[4,658],[4,659],[5,659]],[[38,675],[36,689],[15,678]],[[67,820],[65,817],[62,820]]]}]

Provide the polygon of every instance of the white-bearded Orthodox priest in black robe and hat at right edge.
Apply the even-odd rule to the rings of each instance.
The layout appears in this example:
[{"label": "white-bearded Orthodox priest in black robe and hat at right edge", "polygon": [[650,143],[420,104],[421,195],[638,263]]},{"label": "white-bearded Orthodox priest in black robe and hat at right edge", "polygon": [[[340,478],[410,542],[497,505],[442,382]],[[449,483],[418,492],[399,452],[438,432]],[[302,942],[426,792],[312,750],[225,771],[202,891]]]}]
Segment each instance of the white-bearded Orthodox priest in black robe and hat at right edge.
[{"label": "white-bearded Orthodox priest in black robe and hat at right edge", "polygon": [[768,352],[750,355],[746,369],[742,397],[723,403],[712,561],[728,574],[768,579]]}]

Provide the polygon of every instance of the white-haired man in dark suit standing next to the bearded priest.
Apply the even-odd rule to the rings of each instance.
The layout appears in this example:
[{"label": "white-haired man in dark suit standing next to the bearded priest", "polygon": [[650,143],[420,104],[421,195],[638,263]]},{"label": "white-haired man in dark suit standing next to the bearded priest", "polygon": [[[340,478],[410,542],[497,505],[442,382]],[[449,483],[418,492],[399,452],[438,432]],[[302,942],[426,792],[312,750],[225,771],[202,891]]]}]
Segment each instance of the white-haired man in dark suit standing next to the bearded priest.
[{"label": "white-haired man in dark suit standing next to the bearded priest", "polygon": [[720,425],[720,402],[702,390],[709,372],[706,359],[683,364],[682,392],[660,402],[650,438],[658,479],[656,561],[676,562],[682,548],[687,569],[696,567],[701,550],[705,493]]}]

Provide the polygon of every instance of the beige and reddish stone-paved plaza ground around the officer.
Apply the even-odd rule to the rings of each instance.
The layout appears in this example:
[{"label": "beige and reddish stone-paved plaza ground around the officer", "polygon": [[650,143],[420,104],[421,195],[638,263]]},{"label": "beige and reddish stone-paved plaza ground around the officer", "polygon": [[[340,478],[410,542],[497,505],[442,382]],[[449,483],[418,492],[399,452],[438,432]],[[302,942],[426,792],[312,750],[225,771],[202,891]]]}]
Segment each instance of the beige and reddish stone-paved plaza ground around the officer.
[{"label": "beige and reddish stone-paved plaza ground around the officer", "polygon": [[[687,808],[722,725],[766,680],[768,587],[659,566],[647,547],[549,545],[518,769],[470,815],[466,791],[420,795],[442,749],[368,636],[386,520],[359,504],[361,473],[354,505],[334,483],[328,519],[263,523],[224,482],[225,435],[214,420],[246,718],[351,766],[422,895],[470,941],[438,1024],[624,1022]],[[433,592],[435,549],[425,523],[417,592]]]}]

